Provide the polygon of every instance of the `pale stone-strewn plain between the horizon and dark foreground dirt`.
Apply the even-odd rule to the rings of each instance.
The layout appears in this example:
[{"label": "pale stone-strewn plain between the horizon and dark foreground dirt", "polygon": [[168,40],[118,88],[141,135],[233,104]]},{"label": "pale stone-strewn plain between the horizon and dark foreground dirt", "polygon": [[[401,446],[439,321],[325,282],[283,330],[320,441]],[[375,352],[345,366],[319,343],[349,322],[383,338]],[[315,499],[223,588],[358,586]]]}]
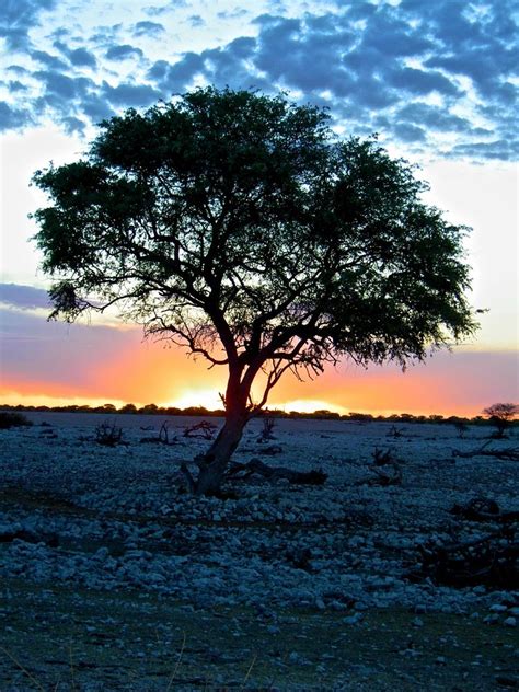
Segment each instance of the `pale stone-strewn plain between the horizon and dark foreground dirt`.
[{"label": "pale stone-strewn plain between the horizon and dark foreground dirt", "polygon": [[[208,445],[183,436],[199,419],[113,416],[123,443],[105,447],[95,441],[105,415],[27,417],[32,427],[0,431],[3,492],[47,500],[3,504],[4,578],[153,592],[195,608],[330,609],[344,611],[349,624],[366,610],[395,606],[516,624],[518,591],[408,578],[420,545],[495,530],[450,514],[454,504],[485,497],[501,511],[519,509],[517,462],[452,453],[480,448],[488,427],[471,426],[460,438],[447,424],[279,419],[275,440],[261,443],[262,420],[252,420],[237,461],[322,469],[328,477],[312,486],[252,475],[229,483],[221,499],[182,492],[180,464],[193,463]],[[164,420],[172,443],[141,441],[158,438]],[[273,445],[281,451],[268,455]],[[495,442],[514,445],[514,438]],[[399,460],[400,484],[368,483],[377,477],[376,449]],[[50,511],[48,498],[71,510]]]}]

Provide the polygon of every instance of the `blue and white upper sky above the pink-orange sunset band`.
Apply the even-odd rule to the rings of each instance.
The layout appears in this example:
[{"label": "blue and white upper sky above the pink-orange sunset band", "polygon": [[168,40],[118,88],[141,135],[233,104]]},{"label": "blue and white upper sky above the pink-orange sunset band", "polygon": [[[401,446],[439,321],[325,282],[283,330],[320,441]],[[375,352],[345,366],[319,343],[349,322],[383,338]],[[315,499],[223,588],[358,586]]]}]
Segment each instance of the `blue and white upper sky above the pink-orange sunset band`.
[{"label": "blue and white upper sky above the pink-orange sunset band", "polygon": [[[420,164],[431,185],[427,201],[473,227],[471,299],[489,312],[468,347],[488,358],[506,350],[509,362],[518,336],[518,7],[2,0],[2,333],[16,344],[27,311],[43,324],[48,280],[28,242],[35,228],[27,214],[45,204],[30,187],[34,171],[77,158],[104,118],[212,83],[284,90],[328,108],[338,135],[378,132],[390,153]],[[67,338],[59,334],[54,338]],[[3,351],[10,373],[19,367],[15,351]],[[517,392],[517,372],[505,380]]]}]

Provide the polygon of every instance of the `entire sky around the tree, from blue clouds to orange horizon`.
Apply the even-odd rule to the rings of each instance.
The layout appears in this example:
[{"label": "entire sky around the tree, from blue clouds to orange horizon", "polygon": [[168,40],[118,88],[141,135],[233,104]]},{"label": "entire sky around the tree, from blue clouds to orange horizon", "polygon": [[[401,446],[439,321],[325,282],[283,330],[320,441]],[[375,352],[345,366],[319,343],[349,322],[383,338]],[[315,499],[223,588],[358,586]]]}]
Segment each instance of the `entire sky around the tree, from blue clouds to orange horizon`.
[{"label": "entire sky around the tree, from blue clouds to orange horizon", "polygon": [[477,415],[517,401],[519,43],[516,0],[2,0],[0,404],[220,405],[224,372],[116,320],[49,323],[27,215],[34,172],[77,160],[96,124],[207,84],[285,91],[338,136],[420,166],[425,195],[472,227],[481,330],[404,373],[343,361],[289,374],[287,410]]}]

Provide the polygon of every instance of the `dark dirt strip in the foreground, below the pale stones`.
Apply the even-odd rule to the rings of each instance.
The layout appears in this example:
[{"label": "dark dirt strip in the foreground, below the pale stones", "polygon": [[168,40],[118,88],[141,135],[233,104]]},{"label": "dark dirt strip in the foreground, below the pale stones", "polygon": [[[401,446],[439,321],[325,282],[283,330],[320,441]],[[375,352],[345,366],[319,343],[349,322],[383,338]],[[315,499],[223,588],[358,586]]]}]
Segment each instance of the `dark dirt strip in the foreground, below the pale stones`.
[{"label": "dark dirt strip in the foreground, below the pale stones", "polygon": [[[48,495],[9,495],[0,504],[76,511]],[[319,609],[195,610],[138,591],[8,579],[1,585],[0,689],[518,689],[514,628],[395,609],[366,612],[358,624],[345,623],[346,615]]]}]

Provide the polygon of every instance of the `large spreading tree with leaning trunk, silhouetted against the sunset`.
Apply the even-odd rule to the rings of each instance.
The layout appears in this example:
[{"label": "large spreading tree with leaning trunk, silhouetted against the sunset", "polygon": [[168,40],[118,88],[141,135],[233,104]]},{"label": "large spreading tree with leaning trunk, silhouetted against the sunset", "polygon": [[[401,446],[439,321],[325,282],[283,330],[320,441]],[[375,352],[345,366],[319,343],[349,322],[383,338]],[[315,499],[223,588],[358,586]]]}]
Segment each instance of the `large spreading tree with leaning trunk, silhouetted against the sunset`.
[{"label": "large spreading tree with leaning trunk, silhouetted against the sunset", "polygon": [[53,318],[117,305],[227,368],[197,494],[218,492],[286,371],[405,366],[475,328],[464,227],[424,205],[425,185],[374,139],[338,140],[325,112],[284,95],[207,88],[130,109],[34,181],[51,200],[35,218]]}]

